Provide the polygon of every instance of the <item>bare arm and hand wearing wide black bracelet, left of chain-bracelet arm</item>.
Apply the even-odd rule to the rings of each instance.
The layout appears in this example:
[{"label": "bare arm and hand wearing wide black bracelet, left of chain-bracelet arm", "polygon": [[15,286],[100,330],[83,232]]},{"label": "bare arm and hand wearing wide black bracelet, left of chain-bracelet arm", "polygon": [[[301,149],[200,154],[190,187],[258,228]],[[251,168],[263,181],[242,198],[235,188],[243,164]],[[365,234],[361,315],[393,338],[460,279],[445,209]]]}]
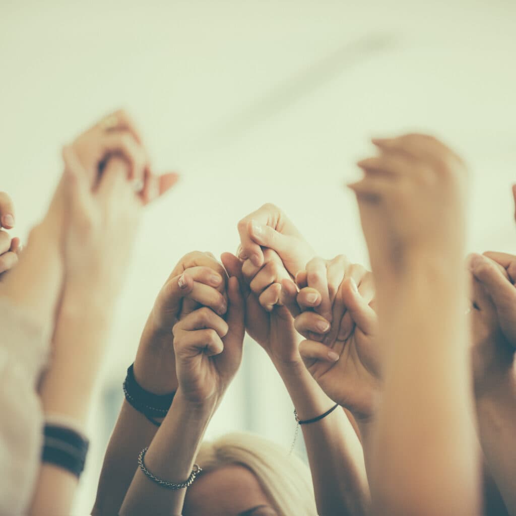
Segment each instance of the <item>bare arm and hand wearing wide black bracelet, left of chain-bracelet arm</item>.
[{"label": "bare arm and hand wearing wide black bracelet, left of chain-bracelet arm", "polygon": [[[188,272],[183,275],[185,269]],[[178,389],[172,327],[180,317],[185,298],[220,313],[224,302],[220,292],[224,289],[222,275],[225,272],[220,264],[207,253],[189,253],[176,265],[157,296],[138,347],[134,374],[143,389],[154,394]],[[183,286],[179,285],[180,278],[186,282]],[[156,431],[146,416],[124,400],[104,457],[93,514],[119,511],[138,468],[138,454],[149,446]]]}]

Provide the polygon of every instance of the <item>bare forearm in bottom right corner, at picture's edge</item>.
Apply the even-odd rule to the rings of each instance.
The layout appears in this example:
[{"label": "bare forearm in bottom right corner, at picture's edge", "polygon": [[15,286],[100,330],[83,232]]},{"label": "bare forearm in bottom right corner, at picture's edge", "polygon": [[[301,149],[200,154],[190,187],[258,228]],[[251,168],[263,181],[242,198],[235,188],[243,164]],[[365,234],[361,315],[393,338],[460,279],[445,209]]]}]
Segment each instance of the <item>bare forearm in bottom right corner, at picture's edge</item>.
[{"label": "bare forearm in bottom right corner, at picture's edge", "polygon": [[509,514],[516,515],[516,372],[514,368],[476,399],[483,455]]}]

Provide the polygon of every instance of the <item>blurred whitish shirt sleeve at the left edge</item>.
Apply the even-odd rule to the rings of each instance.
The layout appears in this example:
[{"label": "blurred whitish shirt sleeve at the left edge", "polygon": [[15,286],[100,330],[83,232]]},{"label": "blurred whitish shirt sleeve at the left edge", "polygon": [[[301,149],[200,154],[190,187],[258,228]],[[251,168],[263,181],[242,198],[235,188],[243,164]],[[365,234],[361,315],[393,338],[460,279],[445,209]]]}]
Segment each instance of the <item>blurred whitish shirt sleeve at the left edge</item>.
[{"label": "blurred whitish shirt sleeve at the left edge", "polygon": [[49,354],[49,329],[0,297],[0,514],[25,514],[39,466],[43,414],[37,382]]}]

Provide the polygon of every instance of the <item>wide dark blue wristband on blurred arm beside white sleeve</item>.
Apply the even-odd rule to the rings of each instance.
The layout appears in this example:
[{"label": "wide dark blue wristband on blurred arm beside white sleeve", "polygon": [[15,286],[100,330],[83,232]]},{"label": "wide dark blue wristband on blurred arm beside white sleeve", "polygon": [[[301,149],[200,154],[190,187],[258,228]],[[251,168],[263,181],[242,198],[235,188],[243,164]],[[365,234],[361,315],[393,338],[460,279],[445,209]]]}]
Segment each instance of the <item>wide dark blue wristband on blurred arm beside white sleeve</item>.
[{"label": "wide dark blue wristband on blurred arm beside white sleeve", "polygon": [[77,478],[84,470],[89,442],[79,432],[47,423],[43,430],[41,460],[62,467]]}]

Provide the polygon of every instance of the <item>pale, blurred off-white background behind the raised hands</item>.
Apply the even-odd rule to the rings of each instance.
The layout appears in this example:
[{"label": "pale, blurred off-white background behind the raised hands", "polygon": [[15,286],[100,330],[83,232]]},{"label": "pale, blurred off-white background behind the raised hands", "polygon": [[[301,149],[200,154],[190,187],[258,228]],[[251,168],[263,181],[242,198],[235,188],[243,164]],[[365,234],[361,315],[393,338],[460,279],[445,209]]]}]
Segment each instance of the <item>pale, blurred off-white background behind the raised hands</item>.
[{"label": "pale, blurred off-white background behind the raised hands", "polygon": [[[369,137],[444,138],[473,171],[471,250],[516,250],[514,26],[512,0],[0,0],[0,189],[17,205],[15,234],[43,213],[60,146],[118,107],[156,167],[182,174],[141,224],[76,514],[92,507],[125,369],[175,263],[234,252],[237,221],[265,202],[321,255],[367,262],[343,185]],[[247,342],[208,437],[252,430],[289,446],[292,411]]]}]

